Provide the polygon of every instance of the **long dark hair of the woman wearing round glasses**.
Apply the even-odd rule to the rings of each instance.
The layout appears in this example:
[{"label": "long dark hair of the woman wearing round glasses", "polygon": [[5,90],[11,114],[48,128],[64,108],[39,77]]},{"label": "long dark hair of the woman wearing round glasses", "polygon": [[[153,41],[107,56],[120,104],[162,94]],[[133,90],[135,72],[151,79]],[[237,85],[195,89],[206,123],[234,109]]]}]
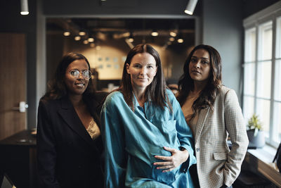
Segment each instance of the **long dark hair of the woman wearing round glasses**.
[{"label": "long dark hair of the woman wearing round glasses", "polygon": [[[67,96],[67,87],[65,84],[65,72],[67,70],[68,65],[76,60],[84,60],[86,61],[89,70],[91,70],[90,63],[85,56],[78,53],[69,53],[63,56],[62,60],[58,64],[57,69],[55,70],[55,75],[53,79],[48,82],[48,90],[46,94],[41,98],[43,101],[48,101],[50,99],[61,99]],[[93,87],[93,81],[90,77],[88,87],[83,93],[83,100],[85,101],[86,106],[89,108],[90,113],[93,112],[93,108],[96,108],[96,96],[95,89]]]}]

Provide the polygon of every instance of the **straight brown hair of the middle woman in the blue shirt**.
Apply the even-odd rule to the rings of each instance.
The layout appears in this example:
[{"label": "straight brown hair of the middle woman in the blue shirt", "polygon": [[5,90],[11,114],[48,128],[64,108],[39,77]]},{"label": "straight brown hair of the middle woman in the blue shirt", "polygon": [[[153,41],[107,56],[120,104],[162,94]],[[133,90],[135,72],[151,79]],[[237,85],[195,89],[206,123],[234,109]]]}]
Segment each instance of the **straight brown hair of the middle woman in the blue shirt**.
[{"label": "straight brown hair of the middle woman in the blue shirt", "polygon": [[166,82],[162,72],[162,64],[159,58],[159,54],[149,44],[138,44],[137,46],[134,46],[133,49],[131,49],[131,51],[129,51],[129,54],[127,55],[126,61],[124,63],[123,75],[122,75],[120,87],[119,89],[117,89],[117,91],[122,92],[126,104],[128,104],[128,106],[130,106],[134,110],[133,87],[131,85],[131,75],[127,73],[126,64],[128,63],[128,65],[130,65],[133,56],[142,53],[148,53],[152,55],[155,58],[156,65],[157,65],[157,73],[153,78],[151,84],[148,85],[148,87],[145,89],[145,99],[151,99],[154,104],[161,107],[162,109],[164,109],[164,107],[167,106],[169,110],[172,111],[169,99],[168,97],[166,97]]}]

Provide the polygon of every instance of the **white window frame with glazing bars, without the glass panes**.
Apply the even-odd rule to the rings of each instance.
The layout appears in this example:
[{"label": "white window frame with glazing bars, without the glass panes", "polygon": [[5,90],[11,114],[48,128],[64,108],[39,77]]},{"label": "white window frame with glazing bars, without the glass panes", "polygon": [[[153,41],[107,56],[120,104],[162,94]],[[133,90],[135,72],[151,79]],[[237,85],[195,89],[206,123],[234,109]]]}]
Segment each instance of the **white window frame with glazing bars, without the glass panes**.
[{"label": "white window frame with glazing bars, without the glass panes", "polygon": [[[263,25],[264,23],[268,23],[270,21],[272,21],[272,30],[273,30],[273,43],[272,43],[272,54],[271,54],[271,59],[268,59],[268,61],[271,61],[271,89],[270,89],[270,109],[268,109],[270,111],[270,125],[269,125],[269,132],[268,132],[268,137],[266,138],[266,142],[267,144],[270,144],[271,146],[275,146],[277,147],[278,144],[281,142],[281,134],[279,134],[279,142],[275,142],[273,140],[273,132],[274,132],[274,125],[273,125],[273,115],[274,115],[274,102],[276,100],[274,100],[274,92],[275,92],[275,61],[280,60],[281,58],[276,58],[275,56],[275,52],[276,52],[276,41],[278,39],[277,37],[277,27],[276,27],[276,22],[277,22],[277,18],[280,18],[281,16],[281,1],[277,2],[276,4],[273,4],[272,6],[269,6],[268,8],[263,9],[262,11],[259,11],[258,13],[255,13],[254,15],[249,16],[248,18],[243,20],[243,25],[244,25],[244,34],[246,34],[247,30],[256,30],[256,57],[254,59],[255,63],[255,86],[254,86],[254,113],[257,112],[257,99],[261,99],[260,97],[256,96],[256,92],[257,92],[257,68],[258,68],[258,63],[262,62],[259,58],[259,45],[261,44],[260,42],[260,34],[259,34],[259,29],[260,26]],[[280,35],[280,34],[279,34]],[[280,37],[280,36],[279,36]],[[247,42],[247,39],[244,39],[244,43]],[[244,44],[244,46],[246,46],[246,44]],[[247,62],[247,60],[244,59],[244,63],[242,65],[242,68],[244,68],[244,64],[245,63],[249,63]],[[277,82],[280,82],[277,81]],[[243,83],[244,84],[244,83]],[[244,96],[249,96],[247,94],[244,94],[243,92],[243,102],[244,102]],[[281,118],[281,114],[280,114],[280,118]],[[247,120],[246,120],[247,122]],[[281,129],[281,127],[279,127]]]}]

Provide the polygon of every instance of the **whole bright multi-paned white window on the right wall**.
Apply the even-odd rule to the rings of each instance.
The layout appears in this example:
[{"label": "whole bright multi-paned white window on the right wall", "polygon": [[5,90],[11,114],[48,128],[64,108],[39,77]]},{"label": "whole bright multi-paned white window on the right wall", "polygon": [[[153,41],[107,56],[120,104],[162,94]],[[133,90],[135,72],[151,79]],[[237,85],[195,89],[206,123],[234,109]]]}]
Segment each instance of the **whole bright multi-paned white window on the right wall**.
[{"label": "whole bright multi-paned white window on the right wall", "polygon": [[281,3],[244,20],[243,114],[259,115],[266,142],[281,142]]}]

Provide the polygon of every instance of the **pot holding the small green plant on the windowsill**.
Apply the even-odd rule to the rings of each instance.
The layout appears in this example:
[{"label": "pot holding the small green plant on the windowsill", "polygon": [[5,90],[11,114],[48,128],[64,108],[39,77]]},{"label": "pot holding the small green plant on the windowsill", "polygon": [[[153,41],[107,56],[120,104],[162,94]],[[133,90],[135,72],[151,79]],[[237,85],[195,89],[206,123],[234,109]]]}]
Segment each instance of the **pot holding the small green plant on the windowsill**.
[{"label": "pot holding the small green plant on the windowsill", "polygon": [[249,146],[254,146],[256,148],[262,148],[266,144],[266,139],[264,137],[264,132],[259,131],[256,136],[254,135],[255,130],[247,130],[247,136],[249,139]]}]

